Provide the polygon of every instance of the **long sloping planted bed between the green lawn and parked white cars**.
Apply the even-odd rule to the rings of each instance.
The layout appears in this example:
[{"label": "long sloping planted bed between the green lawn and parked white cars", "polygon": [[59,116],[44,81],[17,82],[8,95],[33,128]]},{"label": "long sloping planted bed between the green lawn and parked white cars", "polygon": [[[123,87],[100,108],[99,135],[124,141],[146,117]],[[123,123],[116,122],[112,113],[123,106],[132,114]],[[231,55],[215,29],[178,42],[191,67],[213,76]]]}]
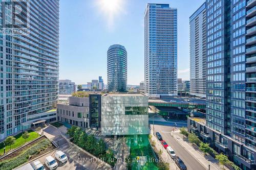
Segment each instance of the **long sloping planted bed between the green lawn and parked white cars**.
[{"label": "long sloping planted bed between the green lawn and parked white cars", "polygon": [[1,170],[11,170],[15,167],[26,163],[27,161],[34,159],[39,154],[44,154],[54,149],[51,141],[46,137],[41,137],[36,141],[26,145],[23,148],[9,154],[0,161]]}]

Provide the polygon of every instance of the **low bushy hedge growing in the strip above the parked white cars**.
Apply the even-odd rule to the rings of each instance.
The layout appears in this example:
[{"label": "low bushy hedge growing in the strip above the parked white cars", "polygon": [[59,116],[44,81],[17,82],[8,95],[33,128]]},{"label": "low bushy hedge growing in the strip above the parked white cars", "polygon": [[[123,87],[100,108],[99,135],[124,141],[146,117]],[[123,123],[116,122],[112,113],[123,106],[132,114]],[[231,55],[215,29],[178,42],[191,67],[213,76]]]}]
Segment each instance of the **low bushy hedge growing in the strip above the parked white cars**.
[{"label": "low bushy hedge growing in the strip above the parked white cars", "polygon": [[41,151],[46,150],[51,145],[51,141],[48,139],[43,139],[40,142],[34,144],[32,147],[25,150],[23,153],[18,156],[7,159],[5,161],[0,162],[1,170],[11,170],[25,162],[28,161],[30,156],[39,154]]}]

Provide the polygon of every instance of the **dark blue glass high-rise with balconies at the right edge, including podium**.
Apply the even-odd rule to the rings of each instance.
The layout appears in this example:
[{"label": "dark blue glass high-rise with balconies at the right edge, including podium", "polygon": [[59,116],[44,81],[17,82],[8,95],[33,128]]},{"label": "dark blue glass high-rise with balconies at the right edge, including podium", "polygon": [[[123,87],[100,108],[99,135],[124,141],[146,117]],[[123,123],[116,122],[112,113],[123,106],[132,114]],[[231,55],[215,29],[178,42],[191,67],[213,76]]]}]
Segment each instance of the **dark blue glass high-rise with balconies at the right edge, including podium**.
[{"label": "dark blue glass high-rise with balconies at the right edge, including podium", "polygon": [[188,121],[242,169],[256,169],[255,9],[255,0],[206,1],[206,123]]}]

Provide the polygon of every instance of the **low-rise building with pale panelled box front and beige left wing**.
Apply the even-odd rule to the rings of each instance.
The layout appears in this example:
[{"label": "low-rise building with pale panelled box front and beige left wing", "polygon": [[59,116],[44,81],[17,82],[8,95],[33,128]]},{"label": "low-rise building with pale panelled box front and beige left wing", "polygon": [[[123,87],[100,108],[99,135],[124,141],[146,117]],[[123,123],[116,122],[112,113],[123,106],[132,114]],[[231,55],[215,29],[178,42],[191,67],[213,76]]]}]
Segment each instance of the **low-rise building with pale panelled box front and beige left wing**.
[{"label": "low-rise building with pale panelled box front and beige left wing", "polygon": [[148,96],[143,93],[91,93],[57,104],[57,120],[93,128],[103,135],[148,134]]}]

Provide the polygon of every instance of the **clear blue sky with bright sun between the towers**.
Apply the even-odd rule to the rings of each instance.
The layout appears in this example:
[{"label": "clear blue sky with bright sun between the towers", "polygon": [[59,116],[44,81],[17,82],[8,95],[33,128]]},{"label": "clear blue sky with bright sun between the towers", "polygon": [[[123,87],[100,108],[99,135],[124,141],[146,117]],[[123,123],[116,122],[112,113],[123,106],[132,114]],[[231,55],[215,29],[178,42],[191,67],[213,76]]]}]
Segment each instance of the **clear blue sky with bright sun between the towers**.
[{"label": "clear blue sky with bright sun between the towers", "polygon": [[[102,76],[106,83],[106,51],[112,44],[127,50],[127,83],[144,80],[144,10],[146,3],[169,4],[178,9],[178,78],[189,80],[189,16],[204,0],[60,1],[59,79],[86,84]],[[114,11],[114,12],[113,12]]]}]

